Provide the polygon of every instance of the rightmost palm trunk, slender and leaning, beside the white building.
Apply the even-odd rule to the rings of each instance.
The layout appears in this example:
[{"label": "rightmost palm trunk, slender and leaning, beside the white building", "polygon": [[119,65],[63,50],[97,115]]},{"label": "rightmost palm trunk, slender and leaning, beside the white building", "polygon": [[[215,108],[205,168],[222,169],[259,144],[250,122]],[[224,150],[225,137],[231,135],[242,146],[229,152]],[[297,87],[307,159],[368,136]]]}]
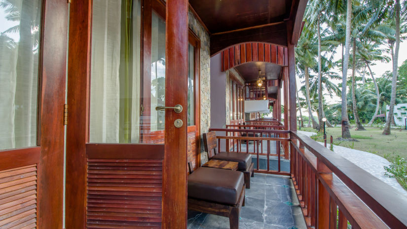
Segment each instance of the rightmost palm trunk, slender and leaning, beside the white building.
[{"label": "rightmost palm trunk, slender and leaning, beside the white building", "polygon": [[391,98],[390,98],[390,111],[389,115],[387,116],[386,125],[384,126],[384,130],[382,134],[391,134],[390,131],[390,123],[393,118],[394,113],[394,104],[396,103],[396,82],[397,82],[397,68],[398,68],[398,60],[399,60],[399,49],[400,49],[400,0],[396,0],[395,5],[395,14],[396,14],[396,47],[394,50],[393,56],[393,80],[391,86]]}]

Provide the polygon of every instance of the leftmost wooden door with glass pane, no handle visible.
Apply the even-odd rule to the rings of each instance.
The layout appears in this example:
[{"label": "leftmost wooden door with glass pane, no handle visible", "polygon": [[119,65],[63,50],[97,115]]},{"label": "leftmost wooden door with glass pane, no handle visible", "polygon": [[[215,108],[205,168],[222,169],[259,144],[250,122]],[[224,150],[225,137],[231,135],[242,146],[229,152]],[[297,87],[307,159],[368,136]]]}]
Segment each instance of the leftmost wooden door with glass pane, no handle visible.
[{"label": "leftmost wooden door with glass pane, no handle visible", "polygon": [[0,228],[62,228],[68,4],[0,10]]}]

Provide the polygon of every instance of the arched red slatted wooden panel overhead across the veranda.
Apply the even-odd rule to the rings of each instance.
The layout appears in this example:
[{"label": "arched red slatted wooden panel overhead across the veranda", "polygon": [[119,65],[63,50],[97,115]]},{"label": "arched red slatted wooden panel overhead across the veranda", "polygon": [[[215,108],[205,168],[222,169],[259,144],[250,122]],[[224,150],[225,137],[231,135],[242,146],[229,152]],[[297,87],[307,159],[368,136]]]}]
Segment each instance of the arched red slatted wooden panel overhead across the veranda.
[{"label": "arched red slatted wooden panel overhead across the veranda", "polygon": [[221,55],[222,72],[252,61],[281,66],[288,65],[287,47],[270,43],[247,42],[237,44],[222,51]]}]

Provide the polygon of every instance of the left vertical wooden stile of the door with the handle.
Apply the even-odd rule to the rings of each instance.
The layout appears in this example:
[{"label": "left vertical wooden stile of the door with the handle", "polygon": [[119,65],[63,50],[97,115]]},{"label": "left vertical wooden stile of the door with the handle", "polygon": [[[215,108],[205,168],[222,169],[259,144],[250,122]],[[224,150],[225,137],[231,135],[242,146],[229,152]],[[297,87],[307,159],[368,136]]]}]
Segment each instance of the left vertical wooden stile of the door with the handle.
[{"label": "left vertical wooden stile of the door with the handle", "polygon": [[88,140],[91,0],[72,1],[68,57],[66,226],[86,228],[86,148]]}]

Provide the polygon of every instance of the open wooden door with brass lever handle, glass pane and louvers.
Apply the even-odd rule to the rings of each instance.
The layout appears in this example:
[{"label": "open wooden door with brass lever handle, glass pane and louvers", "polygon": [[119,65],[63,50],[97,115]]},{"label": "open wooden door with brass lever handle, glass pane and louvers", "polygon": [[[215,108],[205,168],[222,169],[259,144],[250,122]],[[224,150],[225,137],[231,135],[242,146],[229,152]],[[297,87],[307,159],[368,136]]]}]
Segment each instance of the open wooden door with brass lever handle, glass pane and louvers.
[{"label": "open wooden door with brass lever handle, glass pane and louvers", "polygon": [[166,4],[71,3],[67,229],[186,227],[187,1]]}]

